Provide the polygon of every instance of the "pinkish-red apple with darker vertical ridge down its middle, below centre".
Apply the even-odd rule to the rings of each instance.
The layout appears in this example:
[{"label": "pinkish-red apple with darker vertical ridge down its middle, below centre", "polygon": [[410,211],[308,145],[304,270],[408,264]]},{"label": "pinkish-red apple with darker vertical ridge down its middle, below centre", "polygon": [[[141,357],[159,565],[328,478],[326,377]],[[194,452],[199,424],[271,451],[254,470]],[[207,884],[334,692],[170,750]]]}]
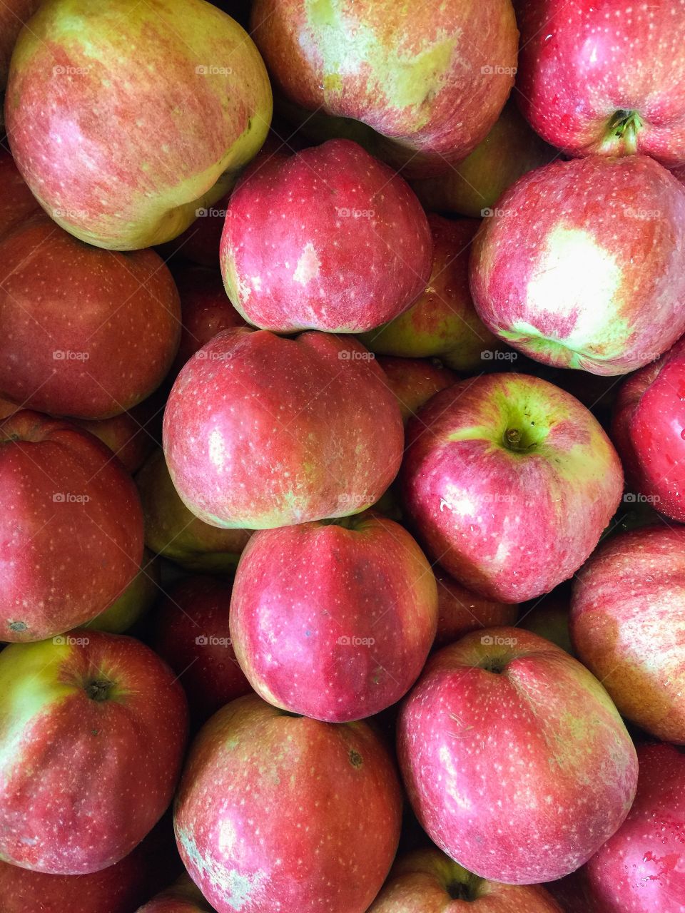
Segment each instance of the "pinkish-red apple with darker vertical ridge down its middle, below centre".
[{"label": "pinkish-red apple with darker vertical ridge down its middle, below centre", "polygon": [[332,723],[403,698],[437,629],[437,586],[416,541],[374,514],[259,530],[237,566],[231,637],[275,707]]}]

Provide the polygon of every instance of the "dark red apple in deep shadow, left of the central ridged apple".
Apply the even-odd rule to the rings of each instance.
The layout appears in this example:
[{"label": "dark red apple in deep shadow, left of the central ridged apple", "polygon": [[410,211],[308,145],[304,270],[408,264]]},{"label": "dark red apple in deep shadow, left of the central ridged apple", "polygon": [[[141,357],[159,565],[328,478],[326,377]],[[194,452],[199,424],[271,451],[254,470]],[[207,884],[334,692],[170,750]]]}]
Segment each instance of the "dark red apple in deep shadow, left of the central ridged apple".
[{"label": "dark red apple in deep shadow, left of the central ridged apple", "polygon": [[195,723],[251,691],[231,644],[230,601],[230,582],[187,577],[169,589],[154,614],[150,642],[179,677]]}]

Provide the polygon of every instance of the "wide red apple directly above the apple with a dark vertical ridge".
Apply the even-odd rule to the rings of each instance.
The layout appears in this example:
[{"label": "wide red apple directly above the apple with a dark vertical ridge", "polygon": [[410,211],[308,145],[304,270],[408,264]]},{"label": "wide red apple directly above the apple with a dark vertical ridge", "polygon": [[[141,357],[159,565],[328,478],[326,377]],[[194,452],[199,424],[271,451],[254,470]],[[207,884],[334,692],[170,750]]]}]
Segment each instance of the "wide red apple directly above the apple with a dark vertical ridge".
[{"label": "wide red apple directly above the apple with a dark vertical ridge", "polygon": [[294,340],[220,332],[185,365],[164,412],[174,486],[195,516],[220,527],[361,513],[395,478],[403,444],[395,394],[373,355],[316,331]]}]

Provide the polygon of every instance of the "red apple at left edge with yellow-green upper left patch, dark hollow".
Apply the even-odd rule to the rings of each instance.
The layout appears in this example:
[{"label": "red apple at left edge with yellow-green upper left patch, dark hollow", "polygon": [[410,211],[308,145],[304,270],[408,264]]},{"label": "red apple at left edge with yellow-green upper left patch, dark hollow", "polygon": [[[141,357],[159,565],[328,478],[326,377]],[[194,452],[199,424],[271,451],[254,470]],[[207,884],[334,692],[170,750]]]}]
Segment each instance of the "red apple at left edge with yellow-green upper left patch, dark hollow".
[{"label": "red apple at left edge with yellow-green upper left patch, dark hollow", "polygon": [[171,669],[132,637],[75,629],[5,647],[0,685],[0,855],[52,875],[119,862],[180,773],[187,705]]}]

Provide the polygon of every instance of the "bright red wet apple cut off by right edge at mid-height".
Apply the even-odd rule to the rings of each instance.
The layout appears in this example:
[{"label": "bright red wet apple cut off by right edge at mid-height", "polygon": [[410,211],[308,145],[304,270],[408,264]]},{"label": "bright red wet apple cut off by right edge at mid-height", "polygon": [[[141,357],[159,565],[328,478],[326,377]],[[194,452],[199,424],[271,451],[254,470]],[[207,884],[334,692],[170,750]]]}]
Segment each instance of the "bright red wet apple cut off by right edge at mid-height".
[{"label": "bright red wet apple cut off by right edge at mid-height", "polygon": [[680,523],[685,522],[683,429],[685,338],[626,378],[612,422],[612,437],[636,491]]}]

